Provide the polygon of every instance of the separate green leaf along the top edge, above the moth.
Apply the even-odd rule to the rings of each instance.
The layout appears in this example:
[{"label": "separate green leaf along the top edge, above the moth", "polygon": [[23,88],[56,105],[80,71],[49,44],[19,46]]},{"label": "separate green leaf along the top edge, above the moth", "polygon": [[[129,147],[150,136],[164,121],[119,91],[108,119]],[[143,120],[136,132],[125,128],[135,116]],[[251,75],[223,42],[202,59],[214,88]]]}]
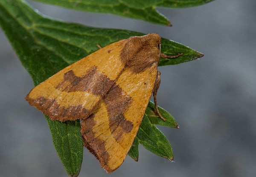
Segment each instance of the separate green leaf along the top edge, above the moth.
[{"label": "separate green leaf along the top edge, above the moth", "polygon": [[96,13],[110,13],[171,26],[156,7],[185,8],[201,6],[213,0],[35,0],[56,6]]}]

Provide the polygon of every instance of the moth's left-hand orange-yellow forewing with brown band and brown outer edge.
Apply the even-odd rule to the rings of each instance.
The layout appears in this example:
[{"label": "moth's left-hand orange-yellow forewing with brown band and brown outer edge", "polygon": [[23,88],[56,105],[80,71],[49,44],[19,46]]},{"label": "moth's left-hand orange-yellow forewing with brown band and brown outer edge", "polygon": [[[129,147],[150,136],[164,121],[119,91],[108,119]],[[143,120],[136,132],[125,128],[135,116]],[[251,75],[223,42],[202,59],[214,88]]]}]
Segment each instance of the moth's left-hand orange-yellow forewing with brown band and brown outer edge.
[{"label": "moth's left-hand orange-yellow forewing with brown band and brown outer edge", "polygon": [[124,44],[115,42],[64,68],[32,89],[26,100],[52,120],[87,118],[123,70],[119,53]]}]

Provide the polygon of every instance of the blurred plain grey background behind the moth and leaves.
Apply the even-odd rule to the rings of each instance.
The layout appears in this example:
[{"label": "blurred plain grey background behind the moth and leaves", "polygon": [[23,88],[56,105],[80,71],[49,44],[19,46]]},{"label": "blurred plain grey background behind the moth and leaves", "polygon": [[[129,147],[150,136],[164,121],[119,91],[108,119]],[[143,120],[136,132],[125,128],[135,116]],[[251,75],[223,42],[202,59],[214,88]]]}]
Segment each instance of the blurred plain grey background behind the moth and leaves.
[{"label": "blurred plain grey background behind the moth and leaves", "polygon": [[[159,67],[159,105],[180,129],[158,126],[175,163],[140,146],[112,174],[84,149],[80,177],[256,177],[256,1],[215,0],[184,9],[157,8],[173,27],[29,1],[50,17],[104,28],[158,33],[205,56]],[[33,87],[0,30],[0,177],[66,177],[43,114],[24,97]]]}]

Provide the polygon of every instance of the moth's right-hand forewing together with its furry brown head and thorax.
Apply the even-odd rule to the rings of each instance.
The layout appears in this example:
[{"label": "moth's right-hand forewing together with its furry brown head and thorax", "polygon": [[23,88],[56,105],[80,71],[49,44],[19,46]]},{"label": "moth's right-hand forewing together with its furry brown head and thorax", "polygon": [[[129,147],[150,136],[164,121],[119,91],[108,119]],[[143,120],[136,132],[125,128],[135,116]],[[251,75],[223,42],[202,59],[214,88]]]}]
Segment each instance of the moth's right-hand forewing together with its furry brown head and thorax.
[{"label": "moth's right-hand forewing together with its furry brown head and thorax", "polygon": [[137,135],[157,77],[159,44],[157,34],[129,38],[120,55],[124,70],[96,112],[81,122],[84,145],[108,172],[123,163]]}]

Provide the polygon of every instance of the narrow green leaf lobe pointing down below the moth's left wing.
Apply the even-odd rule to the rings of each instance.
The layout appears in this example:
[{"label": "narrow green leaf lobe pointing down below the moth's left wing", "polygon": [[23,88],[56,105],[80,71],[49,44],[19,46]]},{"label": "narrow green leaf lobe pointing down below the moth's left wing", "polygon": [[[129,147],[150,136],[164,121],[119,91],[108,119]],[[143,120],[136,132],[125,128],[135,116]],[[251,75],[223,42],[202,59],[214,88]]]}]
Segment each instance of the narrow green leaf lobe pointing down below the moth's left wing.
[{"label": "narrow green leaf lobe pointing down below the moth's left wing", "polygon": [[83,140],[81,138],[80,121],[47,122],[52,133],[52,141],[67,174],[72,177],[79,175],[83,160]]}]

